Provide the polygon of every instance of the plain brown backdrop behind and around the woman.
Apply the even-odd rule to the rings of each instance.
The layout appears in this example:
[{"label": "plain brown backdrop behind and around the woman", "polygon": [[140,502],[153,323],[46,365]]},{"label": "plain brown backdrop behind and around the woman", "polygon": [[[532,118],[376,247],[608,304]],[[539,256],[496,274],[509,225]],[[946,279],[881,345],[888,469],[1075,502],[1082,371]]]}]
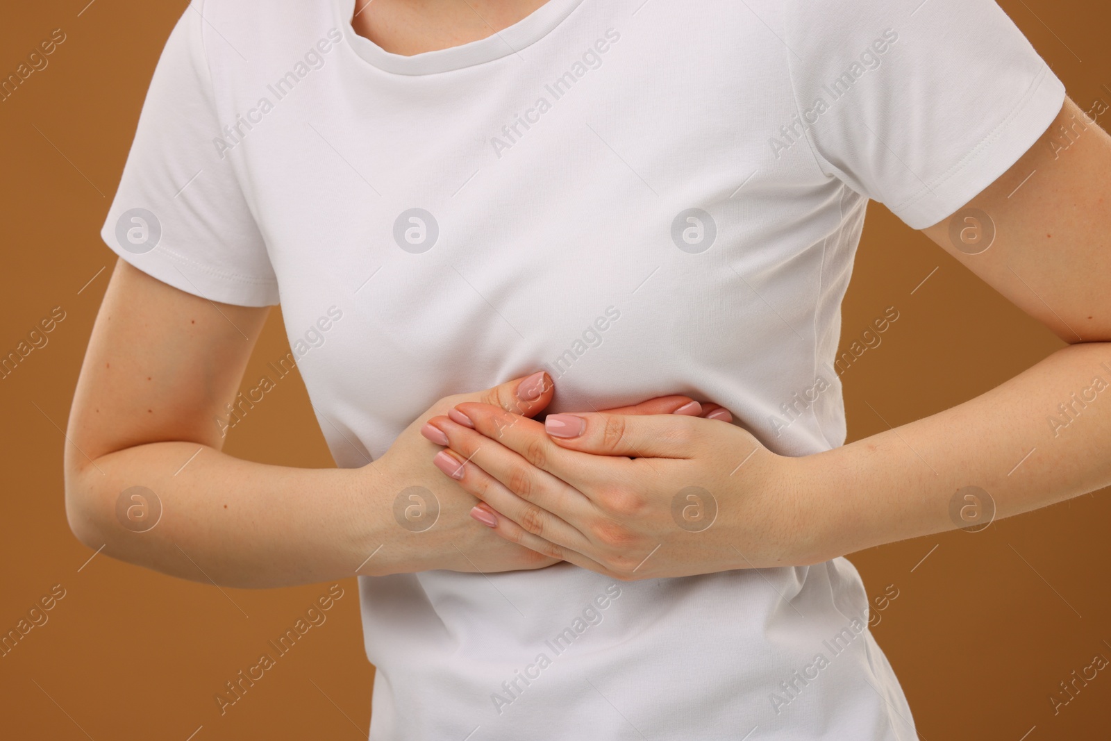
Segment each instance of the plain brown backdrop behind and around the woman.
[{"label": "plain brown backdrop behind and around the woman", "polygon": [[[4,76],[51,30],[61,27],[68,36],[49,67],[0,103],[0,350],[13,349],[53,307],[67,312],[49,344],[0,381],[0,632],[54,584],[67,592],[47,624],[0,658],[0,737],[364,739],[373,669],[362,652],[353,579],[342,582],[344,597],[328,622],[221,717],[213,694],[328,584],[221,592],[102,554],[89,560],[93,551],[66,524],[61,430],[116,259],[98,232],[154,63],[186,9],[184,0],[87,1],[9,4],[0,18]],[[1081,108],[1097,98],[1111,102],[1104,3],[1001,4]],[[891,304],[899,321],[842,377],[850,440],[885,429],[869,404],[902,424],[977,395],[1062,346],[872,204],[844,304],[842,349]],[[247,378],[286,351],[276,310]],[[278,391],[230,433],[227,451],[268,463],[331,465],[300,379]],[[1111,677],[1104,674],[1111,672],[1057,715],[1049,701],[1095,653],[1111,658],[1104,642],[1111,640],[1109,522],[1111,503],[1098,492],[983,532],[853,557],[871,597],[888,584],[899,590],[874,632],[922,738],[1109,737]]]}]

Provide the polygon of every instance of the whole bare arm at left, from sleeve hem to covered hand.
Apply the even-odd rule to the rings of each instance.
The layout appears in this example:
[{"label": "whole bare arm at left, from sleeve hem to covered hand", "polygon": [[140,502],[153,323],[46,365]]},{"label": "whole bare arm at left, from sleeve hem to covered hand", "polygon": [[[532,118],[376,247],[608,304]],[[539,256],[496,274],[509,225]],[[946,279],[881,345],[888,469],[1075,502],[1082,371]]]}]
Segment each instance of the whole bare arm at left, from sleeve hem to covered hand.
[{"label": "whole bare arm at left, from sleeve hem to covered hand", "polygon": [[[309,583],[357,569],[504,571],[554,562],[507,548],[467,515],[474,498],[450,480],[443,485],[446,477],[430,462],[436,447],[418,432],[432,410],[361,469],[266,465],[221,452],[214,420],[236,395],[268,311],[213,303],[117,263],[67,432],[66,511],[81,542],[168,574],[231,587]],[[549,388],[532,402],[514,402],[514,389],[507,383],[468,395],[529,413],[551,398]],[[434,409],[446,411],[446,403]],[[409,485],[426,487],[439,501],[440,520],[428,532],[394,518],[393,502]],[[144,530],[150,521],[143,524],[134,491],[123,494],[132,487],[161,503],[153,528]],[[151,507],[146,517],[153,513]]]}]

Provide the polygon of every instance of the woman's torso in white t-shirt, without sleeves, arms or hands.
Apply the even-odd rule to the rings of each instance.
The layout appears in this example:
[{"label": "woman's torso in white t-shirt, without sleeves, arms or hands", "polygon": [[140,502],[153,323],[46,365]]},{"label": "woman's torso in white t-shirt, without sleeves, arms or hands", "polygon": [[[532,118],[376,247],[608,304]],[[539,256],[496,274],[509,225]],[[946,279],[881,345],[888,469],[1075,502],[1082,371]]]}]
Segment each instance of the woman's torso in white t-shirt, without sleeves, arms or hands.
[{"label": "woman's torso in white t-shirt, without sleeves, arms or hands", "polygon": [[[219,161],[243,183],[338,465],[381,455],[437,399],[538,369],[550,411],[688,393],[781,454],[843,441],[829,364],[865,199],[804,143],[769,148],[795,104],[781,43],[745,4],[712,0],[712,22],[692,22],[680,3],[531,0],[479,28],[461,14],[486,16],[476,0],[443,24],[400,0],[359,17],[354,0],[267,2],[281,12],[261,24],[262,0],[206,16],[244,29],[236,49],[210,36],[219,119],[253,122]],[[782,26],[780,0],[747,4]],[[181,180],[213,167],[182,163]],[[802,400],[815,374],[828,385]],[[373,741],[639,738],[622,714],[658,741],[758,723],[762,739],[912,738],[888,727],[888,702],[910,712],[844,559],[359,587]],[[817,671],[843,630],[849,649],[778,712],[769,692]]]}]

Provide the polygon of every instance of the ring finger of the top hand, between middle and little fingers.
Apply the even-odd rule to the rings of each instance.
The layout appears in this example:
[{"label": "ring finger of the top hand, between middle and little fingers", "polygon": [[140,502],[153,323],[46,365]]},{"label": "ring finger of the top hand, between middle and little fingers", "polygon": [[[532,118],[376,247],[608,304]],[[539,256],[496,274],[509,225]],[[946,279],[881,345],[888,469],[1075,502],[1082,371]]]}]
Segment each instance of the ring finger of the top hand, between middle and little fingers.
[{"label": "ring finger of the top hand, between middle and little fingers", "polygon": [[[472,435],[482,437],[476,432],[468,432]],[[487,440],[487,443],[490,442],[490,440]],[[519,497],[503,482],[499,481],[497,477],[479,465],[474,458],[464,459],[453,450],[441,450],[432,459],[432,462],[441,471],[458,481],[460,487],[466,491],[500,512],[502,519],[512,520],[518,527],[532,535],[547,541],[549,544],[563,548],[583,549],[589,547],[590,541],[565,520],[538,503]],[[565,487],[565,484],[563,485]],[[585,498],[581,494],[578,494],[578,492],[574,493],[580,500],[585,501]],[[563,555],[556,557],[553,554],[552,558],[563,558]]]}]

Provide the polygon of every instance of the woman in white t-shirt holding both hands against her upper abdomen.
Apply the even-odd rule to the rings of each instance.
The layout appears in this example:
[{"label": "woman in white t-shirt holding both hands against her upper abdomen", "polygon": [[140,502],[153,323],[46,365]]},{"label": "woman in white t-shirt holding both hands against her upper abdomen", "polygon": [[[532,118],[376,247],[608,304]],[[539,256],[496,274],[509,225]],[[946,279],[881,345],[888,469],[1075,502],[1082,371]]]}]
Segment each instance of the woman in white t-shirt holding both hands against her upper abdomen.
[{"label": "woman in white t-shirt holding both hands against her upper abdomen", "polygon": [[[913,739],[842,554],[1111,482],[1109,412],[1043,421],[1111,378],[1109,163],[988,0],[196,3],[102,230],[71,527],[359,574],[371,739]],[[843,445],[869,198],[1070,347]],[[279,302],[336,470],[220,452]]]}]

